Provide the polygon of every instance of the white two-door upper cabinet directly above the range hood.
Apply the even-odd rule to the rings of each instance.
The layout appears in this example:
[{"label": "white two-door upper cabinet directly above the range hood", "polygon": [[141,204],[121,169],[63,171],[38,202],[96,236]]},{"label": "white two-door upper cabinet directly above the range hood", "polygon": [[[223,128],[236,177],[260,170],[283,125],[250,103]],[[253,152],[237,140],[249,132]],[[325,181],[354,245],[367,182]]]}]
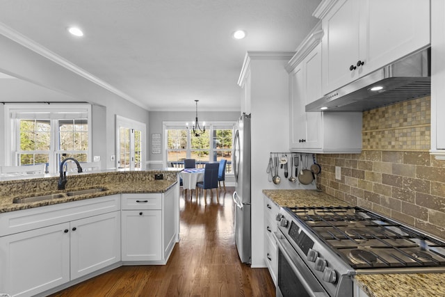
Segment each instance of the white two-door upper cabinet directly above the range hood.
[{"label": "white two-door upper cabinet directly above the range hood", "polygon": [[430,45],[428,0],[323,1],[323,95]]}]

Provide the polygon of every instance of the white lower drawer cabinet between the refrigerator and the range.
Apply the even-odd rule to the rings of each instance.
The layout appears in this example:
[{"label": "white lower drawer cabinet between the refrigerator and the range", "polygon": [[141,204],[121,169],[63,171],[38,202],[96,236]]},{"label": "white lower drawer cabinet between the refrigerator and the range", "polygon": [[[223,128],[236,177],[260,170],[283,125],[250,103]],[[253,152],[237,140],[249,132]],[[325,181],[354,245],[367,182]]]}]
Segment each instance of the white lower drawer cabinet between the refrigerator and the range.
[{"label": "white lower drawer cabinet between the refrigerator and the range", "polygon": [[280,212],[275,202],[264,196],[264,252],[265,261],[272,280],[277,285],[278,279],[278,257],[277,257],[277,243],[273,238],[272,233],[277,231],[277,221],[275,215]]}]

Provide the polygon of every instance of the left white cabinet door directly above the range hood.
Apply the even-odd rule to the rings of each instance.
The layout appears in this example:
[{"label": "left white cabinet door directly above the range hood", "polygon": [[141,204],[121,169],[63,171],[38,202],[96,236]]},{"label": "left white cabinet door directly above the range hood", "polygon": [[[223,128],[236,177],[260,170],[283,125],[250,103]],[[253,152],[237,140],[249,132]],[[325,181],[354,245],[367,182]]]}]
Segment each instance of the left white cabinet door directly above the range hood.
[{"label": "left white cabinet door directly above the range hood", "polygon": [[350,70],[359,60],[359,2],[341,0],[323,17],[323,95],[359,77]]}]

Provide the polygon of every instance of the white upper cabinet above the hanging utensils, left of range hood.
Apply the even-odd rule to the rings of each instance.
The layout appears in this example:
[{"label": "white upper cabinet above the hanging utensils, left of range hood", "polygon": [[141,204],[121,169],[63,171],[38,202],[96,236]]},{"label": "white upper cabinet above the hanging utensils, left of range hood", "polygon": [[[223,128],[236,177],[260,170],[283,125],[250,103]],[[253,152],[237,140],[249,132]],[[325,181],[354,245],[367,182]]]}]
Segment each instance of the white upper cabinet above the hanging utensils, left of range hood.
[{"label": "white upper cabinet above the hanging utensils, left of range hood", "polygon": [[290,150],[312,153],[362,151],[361,112],[310,112],[305,106],[321,97],[323,31],[314,29],[298,48],[289,72]]}]

